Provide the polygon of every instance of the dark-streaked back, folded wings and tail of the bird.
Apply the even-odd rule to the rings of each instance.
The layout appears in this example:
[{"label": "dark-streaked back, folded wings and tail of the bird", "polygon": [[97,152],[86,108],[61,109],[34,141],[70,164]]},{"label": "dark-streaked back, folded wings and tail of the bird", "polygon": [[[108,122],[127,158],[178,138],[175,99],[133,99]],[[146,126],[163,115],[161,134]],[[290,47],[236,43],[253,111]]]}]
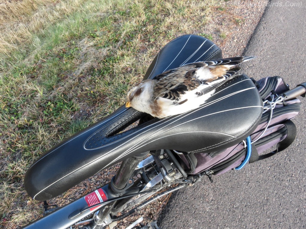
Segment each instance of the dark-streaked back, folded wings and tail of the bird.
[{"label": "dark-streaked back, folded wings and tail of the bird", "polygon": [[218,87],[218,83],[236,75],[240,70],[240,68],[232,68],[229,71],[231,67],[255,58],[257,57],[238,56],[195,62],[165,71],[153,78],[153,80],[156,80],[153,99],[162,97],[180,101],[181,95],[186,92],[194,90],[200,85],[207,85],[204,89],[197,91],[198,96],[201,96]]}]

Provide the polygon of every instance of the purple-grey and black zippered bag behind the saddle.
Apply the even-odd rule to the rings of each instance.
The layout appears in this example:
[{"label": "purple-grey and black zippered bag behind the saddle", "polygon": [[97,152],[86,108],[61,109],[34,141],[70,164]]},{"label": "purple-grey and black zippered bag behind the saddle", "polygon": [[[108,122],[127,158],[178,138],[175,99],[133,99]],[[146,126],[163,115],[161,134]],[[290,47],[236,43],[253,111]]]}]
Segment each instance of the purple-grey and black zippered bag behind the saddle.
[{"label": "purple-grey and black zippered bag behind the saddle", "polygon": [[[251,137],[251,157],[249,163],[271,157],[287,148],[296,137],[296,126],[291,121],[300,111],[300,100],[293,99],[280,102],[279,95],[289,90],[289,86],[278,76],[262,78],[259,81],[252,79],[264,101],[264,111],[256,130]],[[263,154],[264,151],[276,145],[274,151]],[[223,151],[211,153],[179,153],[189,174],[198,174],[203,171],[210,178],[230,169],[240,169],[239,165],[246,157],[246,143],[241,142]]]}]

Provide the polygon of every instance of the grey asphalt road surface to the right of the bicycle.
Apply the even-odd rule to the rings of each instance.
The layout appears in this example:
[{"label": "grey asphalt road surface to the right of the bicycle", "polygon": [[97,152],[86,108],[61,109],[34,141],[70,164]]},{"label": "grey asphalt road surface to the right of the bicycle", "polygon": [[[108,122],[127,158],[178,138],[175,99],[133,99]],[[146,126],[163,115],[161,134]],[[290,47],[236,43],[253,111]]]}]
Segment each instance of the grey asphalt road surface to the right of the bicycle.
[{"label": "grey asphalt road surface to the right of the bicycle", "polygon": [[[279,75],[291,86],[306,81],[306,1],[301,7],[293,3],[277,0],[267,7],[245,50],[259,56],[244,65],[250,77]],[[294,120],[297,138],[289,149],[239,172],[214,176],[213,184],[204,179],[177,191],[159,227],[306,228],[306,98],[302,102]]]}]

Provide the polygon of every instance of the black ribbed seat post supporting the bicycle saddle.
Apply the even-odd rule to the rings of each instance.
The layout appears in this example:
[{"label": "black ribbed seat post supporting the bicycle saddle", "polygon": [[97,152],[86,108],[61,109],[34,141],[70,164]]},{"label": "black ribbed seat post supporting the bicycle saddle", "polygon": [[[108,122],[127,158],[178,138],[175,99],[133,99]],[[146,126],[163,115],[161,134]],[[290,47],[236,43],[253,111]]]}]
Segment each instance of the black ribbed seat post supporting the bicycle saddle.
[{"label": "black ribbed seat post supporting the bicycle saddle", "polygon": [[113,182],[113,185],[116,189],[120,190],[125,188],[139,162],[143,160],[148,154],[149,151],[140,153],[136,156],[130,157],[122,161]]}]

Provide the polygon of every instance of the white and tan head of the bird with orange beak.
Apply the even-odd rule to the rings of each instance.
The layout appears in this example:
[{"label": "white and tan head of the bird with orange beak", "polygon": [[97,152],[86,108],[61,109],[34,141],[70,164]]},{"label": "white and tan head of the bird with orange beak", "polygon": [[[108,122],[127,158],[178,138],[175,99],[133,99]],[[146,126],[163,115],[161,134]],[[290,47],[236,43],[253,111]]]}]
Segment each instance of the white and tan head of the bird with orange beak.
[{"label": "white and tan head of the bird with orange beak", "polygon": [[153,85],[154,82],[147,79],[132,87],[127,93],[125,107],[133,107],[147,113],[153,100]]}]

